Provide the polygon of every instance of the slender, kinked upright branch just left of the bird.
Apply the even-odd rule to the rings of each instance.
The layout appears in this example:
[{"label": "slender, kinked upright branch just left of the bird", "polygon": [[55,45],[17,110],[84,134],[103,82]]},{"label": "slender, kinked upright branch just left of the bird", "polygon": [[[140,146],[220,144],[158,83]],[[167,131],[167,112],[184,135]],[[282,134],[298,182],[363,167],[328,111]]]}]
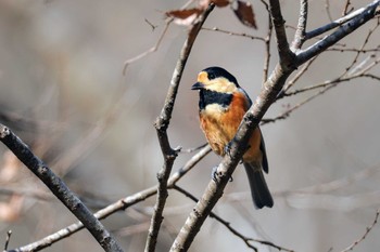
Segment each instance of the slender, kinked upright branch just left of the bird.
[{"label": "slender, kinked upright branch just left of the bird", "polygon": [[176,68],[174,69],[172,81],[170,81],[170,87],[167,92],[167,96],[165,100],[164,107],[156,119],[154,127],[157,131],[157,136],[159,136],[159,142],[161,146],[161,150],[164,156],[164,165],[157,173],[157,180],[159,180],[159,187],[157,187],[157,199],[156,203],[154,205],[154,212],[151,218],[151,225],[149,228],[149,234],[147,238],[147,244],[145,244],[145,251],[154,251],[156,242],[157,242],[157,237],[159,237],[159,231],[161,227],[161,223],[163,221],[163,211],[164,207],[166,203],[166,198],[168,196],[167,194],[167,180],[170,175],[173,163],[177,157],[177,154],[179,149],[173,149],[170,147],[170,143],[168,141],[168,135],[167,135],[167,128],[172,118],[172,112],[174,108],[174,104],[176,101],[177,92],[178,92],[178,87],[180,79],[182,77],[182,72],[185,69],[185,65],[187,63],[187,59],[189,57],[191,48],[195,41],[195,38],[207,18],[208,14],[212,12],[214,9],[214,4],[210,4],[208,8],[202,13],[194,23],[189,31],[188,38],[185,41],[185,44],[182,47],[182,50],[180,52],[179,59],[177,62]]}]

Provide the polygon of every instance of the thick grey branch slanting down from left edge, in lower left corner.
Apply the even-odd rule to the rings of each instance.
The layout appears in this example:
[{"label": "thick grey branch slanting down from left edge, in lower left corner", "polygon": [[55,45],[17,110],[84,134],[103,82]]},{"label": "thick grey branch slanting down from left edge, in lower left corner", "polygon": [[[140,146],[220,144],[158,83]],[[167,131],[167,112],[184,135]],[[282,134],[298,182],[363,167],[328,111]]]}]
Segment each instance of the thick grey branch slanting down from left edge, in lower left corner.
[{"label": "thick grey branch slanting down from left edge, in lower left corner", "polygon": [[42,181],[61,202],[86,226],[104,251],[123,251],[122,247],[105,229],[101,222],[76,197],[63,181],[58,177],[29,147],[10,129],[0,124],[0,141]]}]

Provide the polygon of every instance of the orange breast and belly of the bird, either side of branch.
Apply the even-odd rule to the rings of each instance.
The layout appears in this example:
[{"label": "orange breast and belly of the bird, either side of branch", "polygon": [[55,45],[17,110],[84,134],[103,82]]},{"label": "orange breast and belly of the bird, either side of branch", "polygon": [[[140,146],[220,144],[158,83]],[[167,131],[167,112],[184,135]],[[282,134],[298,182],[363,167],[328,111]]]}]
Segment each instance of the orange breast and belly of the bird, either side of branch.
[{"label": "orange breast and belly of the bird, either side of branch", "polygon": [[[225,146],[233,138],[248,106],[244,94],[237,93],[227,108],[212,104],[200,112],[201,128],[217,155],[225,155]],[[261,161],[259,144],[261,133],[257,128],[250,138],[250,148],[243,156],[244,161]]]}]

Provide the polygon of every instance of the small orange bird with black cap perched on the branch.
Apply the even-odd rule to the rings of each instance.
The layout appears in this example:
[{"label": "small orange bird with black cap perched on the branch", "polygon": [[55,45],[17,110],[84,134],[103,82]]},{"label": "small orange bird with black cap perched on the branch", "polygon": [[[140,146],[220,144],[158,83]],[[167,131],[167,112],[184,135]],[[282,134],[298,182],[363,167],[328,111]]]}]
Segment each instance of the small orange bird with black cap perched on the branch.
[{"label": "small orange bird with black cap perched on the branch", "polygon": [[[199,91],[201,129],[213,151],[224,157],[252,101],[237,79],[217,66],[203,69],[191,90]],[[252,133],[242,163],[255,208],[271,208],[274,200],[263,173],[268,173],[268,160],[258,127]]]}]

